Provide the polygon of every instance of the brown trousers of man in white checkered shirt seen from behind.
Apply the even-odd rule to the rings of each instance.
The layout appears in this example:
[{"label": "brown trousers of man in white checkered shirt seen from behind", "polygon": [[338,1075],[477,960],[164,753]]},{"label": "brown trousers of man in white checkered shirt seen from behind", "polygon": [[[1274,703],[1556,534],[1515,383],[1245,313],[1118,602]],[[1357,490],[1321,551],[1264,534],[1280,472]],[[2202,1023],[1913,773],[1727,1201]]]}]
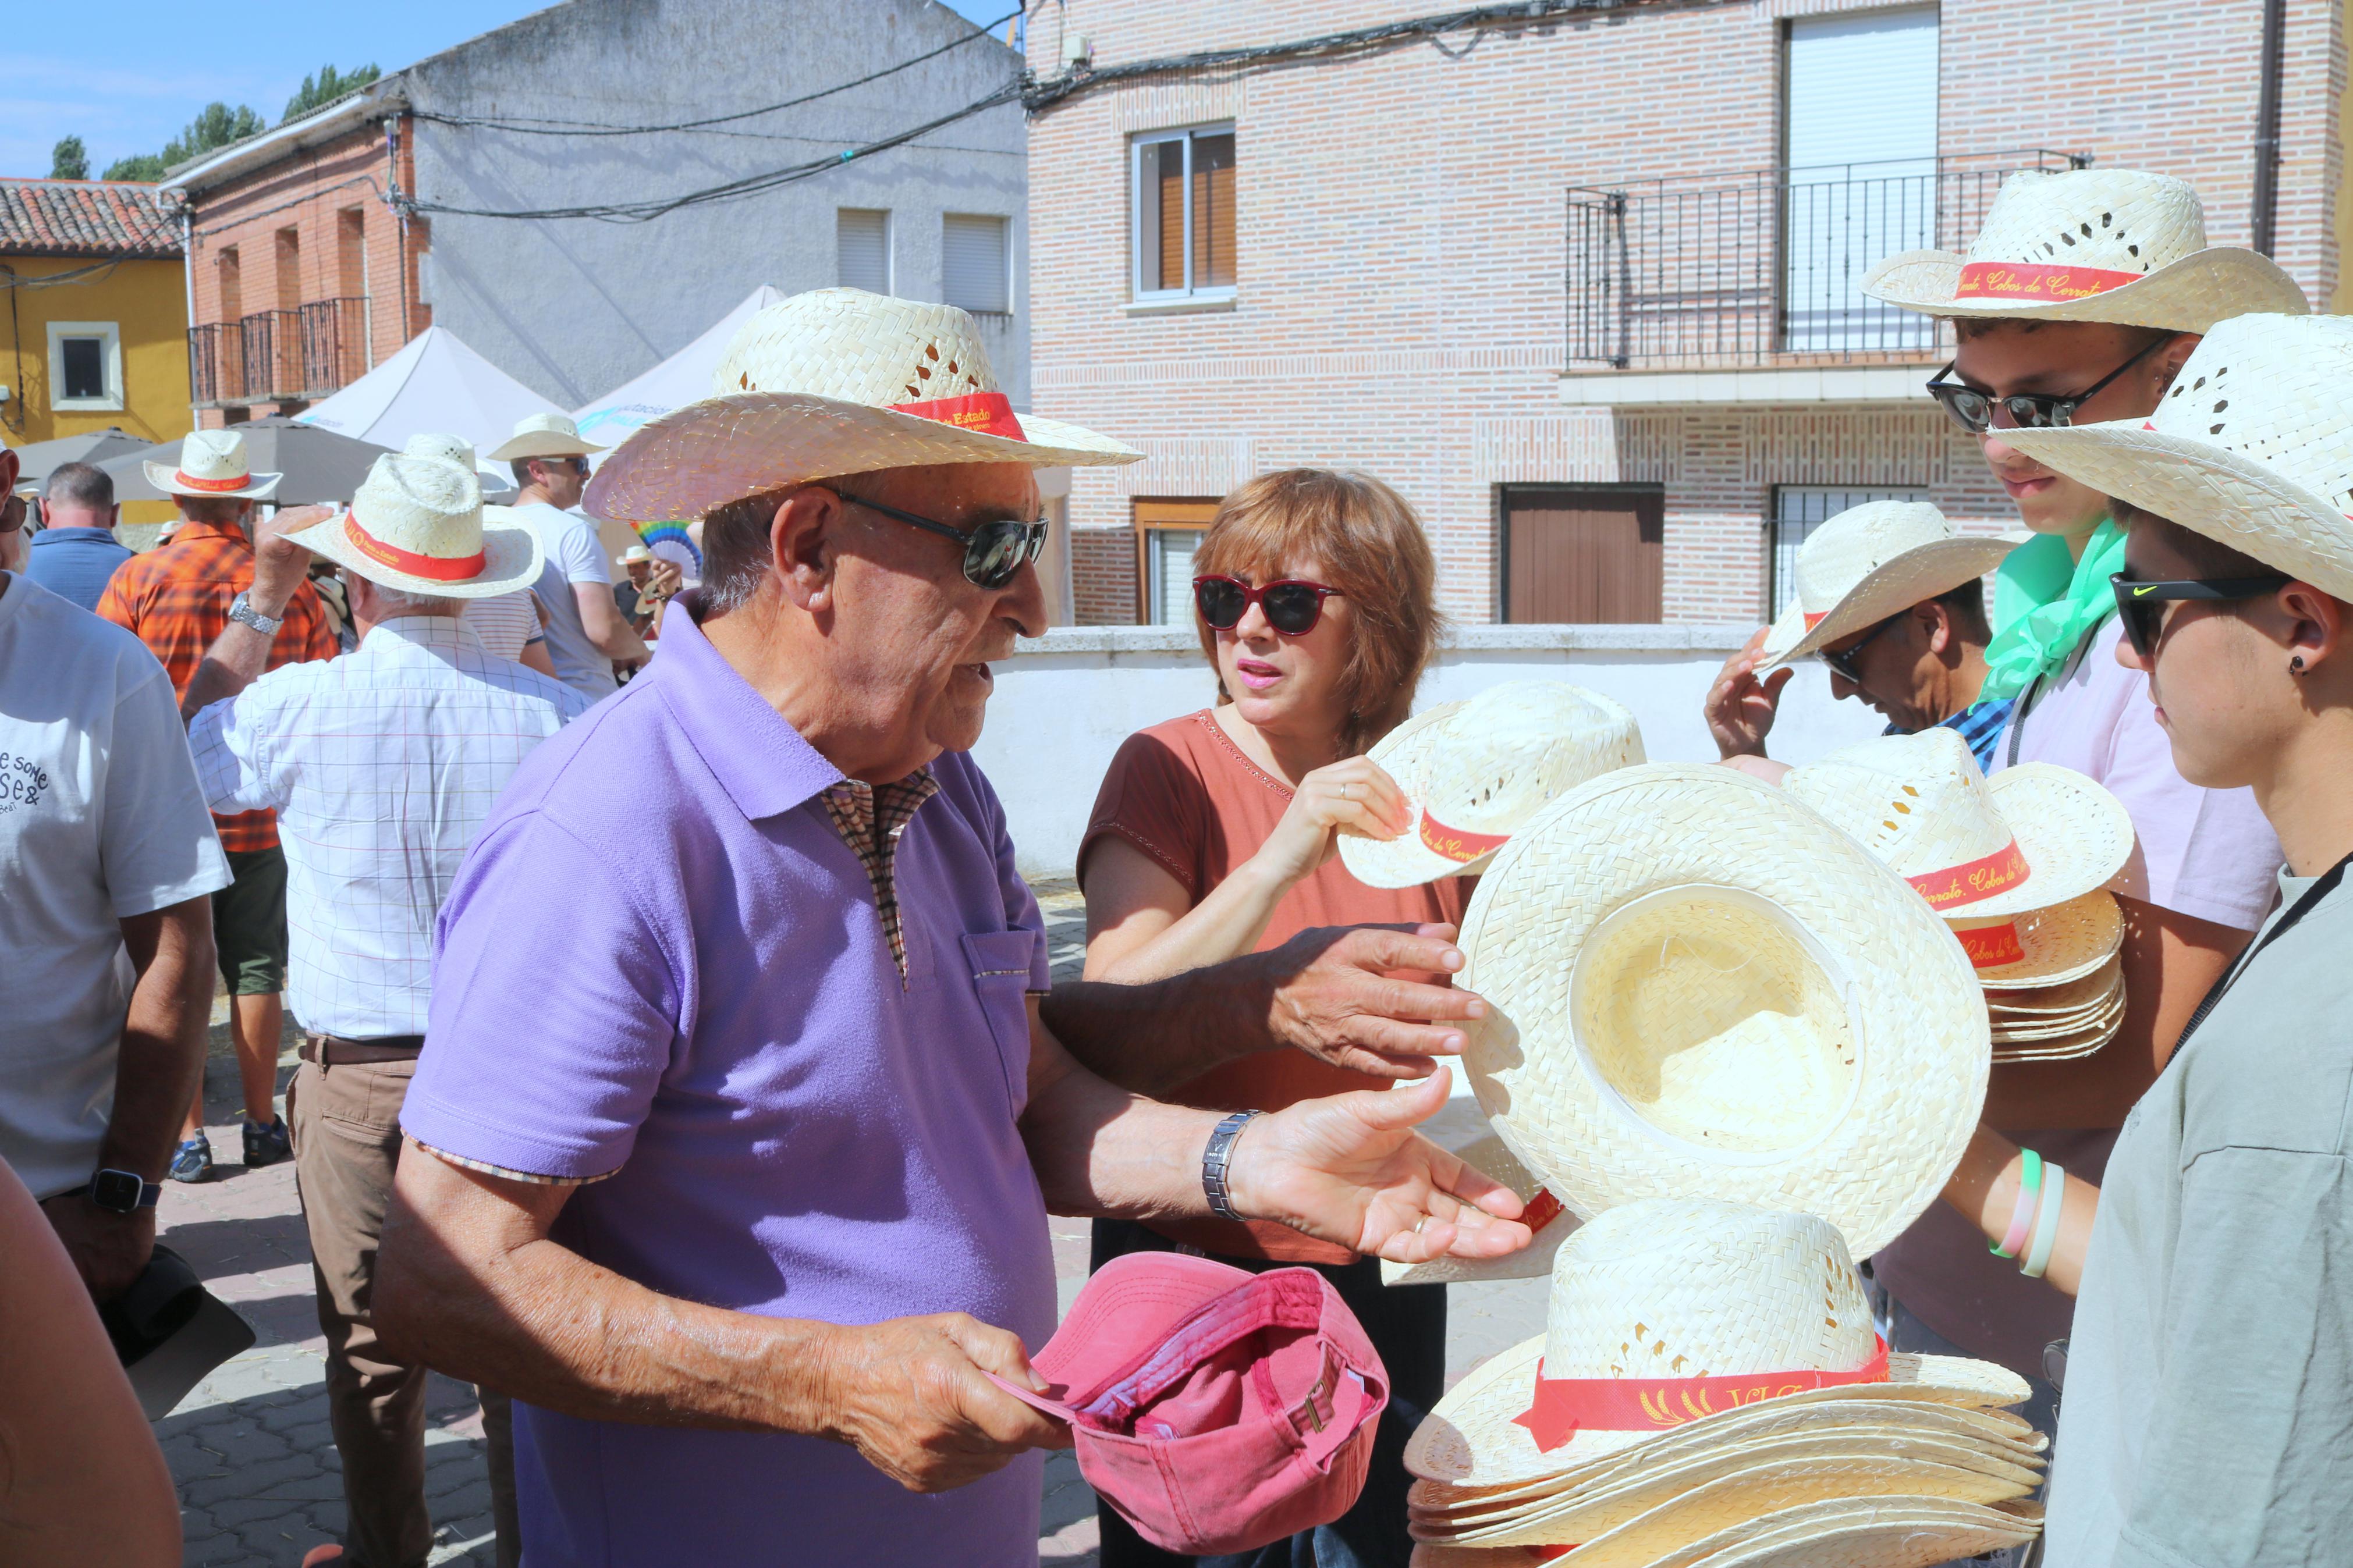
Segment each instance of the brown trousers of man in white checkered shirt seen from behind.
[{"label": "brown trousers of man in white checkered shirt seen from behind", "polygon": [[[287,1086],[294,1180],[311,1229],[318,1326],[327,1333],[327,1420],[344,1455],[344,1549],[351,1568],[424,1568],[426,1368],[376,1342],[367,1300],[376,1239],[400,1164],[400,1103],[416,1063],[304,1063]],[[515,1443],[506,1394],[480,1389],[489,1439],[489,1507],[499,1568],[522,1561],[515,1528]]]}]

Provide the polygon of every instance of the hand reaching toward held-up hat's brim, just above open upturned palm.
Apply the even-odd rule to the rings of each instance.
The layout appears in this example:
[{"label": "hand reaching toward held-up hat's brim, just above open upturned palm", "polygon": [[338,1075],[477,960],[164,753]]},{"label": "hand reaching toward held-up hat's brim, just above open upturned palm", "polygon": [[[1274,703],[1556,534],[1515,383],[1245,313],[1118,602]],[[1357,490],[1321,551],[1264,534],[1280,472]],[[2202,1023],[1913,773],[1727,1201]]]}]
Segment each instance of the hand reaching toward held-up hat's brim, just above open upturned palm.
[{"label": "hand reaching toward held-up hat's brim, just above open upturned palm", "polygon": [[1384,1079],[1421,1079],[1440,1056],[1461,1056],[1459,1025],[1487,1004],[1452,985],[1391,980],[1391,971],[1454,973],[1454,926],[1322,926],[1273,952],[1268,1034],[1308,1056]]}]

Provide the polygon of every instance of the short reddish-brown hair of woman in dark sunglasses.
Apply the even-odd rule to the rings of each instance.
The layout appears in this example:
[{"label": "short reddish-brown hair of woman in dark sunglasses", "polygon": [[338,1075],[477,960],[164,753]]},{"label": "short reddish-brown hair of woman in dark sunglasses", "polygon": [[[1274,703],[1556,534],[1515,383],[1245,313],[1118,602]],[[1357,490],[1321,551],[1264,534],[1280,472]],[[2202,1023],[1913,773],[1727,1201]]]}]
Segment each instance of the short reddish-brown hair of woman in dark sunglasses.
[{"label": "short reddish-brown hair of woman in dark sunglasses", "polygon": [[[1195,574],[1273,581],[1315,557],[1325,585],[1348,599],[1355,637],[1341,672],[1341,755],[1355,757],[1414,708],[1438,649],[1438,562],[1414,508],[1372,475],[1282,468],[1235,487],[1193,555]],[[1217,632],[1193,614],[1217,668]],[[1217,701],[1231,703],[1219,677]]]}]

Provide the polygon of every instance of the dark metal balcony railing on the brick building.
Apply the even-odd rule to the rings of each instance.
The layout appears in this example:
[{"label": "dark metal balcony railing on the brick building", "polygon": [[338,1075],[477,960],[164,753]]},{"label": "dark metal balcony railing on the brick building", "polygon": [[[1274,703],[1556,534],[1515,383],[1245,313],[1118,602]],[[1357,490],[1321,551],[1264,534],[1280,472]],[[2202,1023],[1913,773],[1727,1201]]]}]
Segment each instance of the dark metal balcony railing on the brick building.
[{"label": "dark metal balcony railing on the brick building", "polygon": [[1951,331],[1864,299],[1880,259],[1962,249],[2002,179],[2080,153],[1977,153],[1572,186],[1569,367],[1920,360]]}]

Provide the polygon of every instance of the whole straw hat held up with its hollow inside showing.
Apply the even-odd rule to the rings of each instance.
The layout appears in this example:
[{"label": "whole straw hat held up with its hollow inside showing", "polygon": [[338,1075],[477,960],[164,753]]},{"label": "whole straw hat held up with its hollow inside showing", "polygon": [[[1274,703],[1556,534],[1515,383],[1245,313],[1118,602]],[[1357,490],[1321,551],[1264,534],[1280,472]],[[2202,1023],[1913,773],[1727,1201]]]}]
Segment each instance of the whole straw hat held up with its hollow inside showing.
[{"label": "whole straw hat held up with its hollow inside showing", "polygon": [[1871,1255],[1986,1098],[1986,1004],[1861,844],[1722,766],[1605,773],[1527,823],[1464,914],[1464,1070],[1588,1220],[1642,1197],[1819,1213]]}]

